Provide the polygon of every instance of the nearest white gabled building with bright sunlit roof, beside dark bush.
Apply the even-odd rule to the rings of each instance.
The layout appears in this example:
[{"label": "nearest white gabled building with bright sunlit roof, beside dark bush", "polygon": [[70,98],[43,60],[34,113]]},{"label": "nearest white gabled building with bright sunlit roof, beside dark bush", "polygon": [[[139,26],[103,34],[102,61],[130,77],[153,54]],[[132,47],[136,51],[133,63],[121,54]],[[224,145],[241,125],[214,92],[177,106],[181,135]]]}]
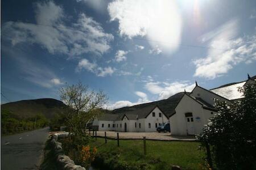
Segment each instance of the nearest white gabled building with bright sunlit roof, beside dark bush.
[{"label": "nearest white gabled building with bright sunlit roof, beside dark bush", "polygon": [[226,101],[243,98],[238,92],[238,87],[248,83],[255,83],[248,76],[248,80],[238,83],[226,84],[224,86],[206,90],[196,83],[191,93],[184,93],[183,97],[175,107],[175,112],[170,115],[170,127],[172,135],[195,135],[201,133],[210,117],[217,113],[214,109],[214,99]]}]

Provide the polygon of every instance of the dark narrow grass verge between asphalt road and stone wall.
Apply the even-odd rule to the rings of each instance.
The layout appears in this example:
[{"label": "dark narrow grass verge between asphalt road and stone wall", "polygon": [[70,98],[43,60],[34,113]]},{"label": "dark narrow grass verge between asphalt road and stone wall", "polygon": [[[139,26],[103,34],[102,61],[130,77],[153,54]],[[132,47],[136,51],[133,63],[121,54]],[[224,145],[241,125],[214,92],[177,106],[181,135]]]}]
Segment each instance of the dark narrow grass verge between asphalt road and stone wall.
[{"label": "dark narrow grass verge between asphalt road and stone wall", "polygon": [[44,160],[43,163],[40,165],[41,170],[57,170],[57,165],[56,165],[56,158],[53,153],[51,144],[50,144],[51,139],[48,139],[46,141],[46,146],[44,148]]}]

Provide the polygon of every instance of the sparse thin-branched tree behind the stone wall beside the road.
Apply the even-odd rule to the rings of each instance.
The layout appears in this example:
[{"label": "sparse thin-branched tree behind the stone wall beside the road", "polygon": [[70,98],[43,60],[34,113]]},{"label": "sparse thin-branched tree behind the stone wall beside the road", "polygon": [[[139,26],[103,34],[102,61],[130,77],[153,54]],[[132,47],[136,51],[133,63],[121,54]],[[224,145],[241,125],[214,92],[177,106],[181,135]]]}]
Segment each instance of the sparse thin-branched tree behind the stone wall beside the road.
[{"label": "sparse thin-branched tree behind the stone wall beside the road", "polygon": [[101,113],[99,108],[107,101],[102,91],[90,91],[81,82],[61,88],[60,99],[69,106],[64,114],[67,129],[78,139],[85,136],[86,123]]}]

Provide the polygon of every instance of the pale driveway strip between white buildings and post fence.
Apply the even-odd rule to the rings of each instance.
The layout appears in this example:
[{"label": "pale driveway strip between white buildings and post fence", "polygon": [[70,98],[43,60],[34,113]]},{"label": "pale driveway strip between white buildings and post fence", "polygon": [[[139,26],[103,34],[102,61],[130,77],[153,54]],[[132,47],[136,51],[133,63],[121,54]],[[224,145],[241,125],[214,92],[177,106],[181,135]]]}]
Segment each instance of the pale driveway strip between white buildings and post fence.
[{"label": "pale driveway strip between white buildings and post fence", "polygon": [[[172,136],[170,133],[158,133],[158,132],[118,132],[119,139],[146,139],[161,140],[161,141],[195,141],[195,137],[192,136]],[[91,131],[91,135],[92,135]],[[106,131],[106,135],[109,138],[117,138],[116,131]],[[104,137],[105,131],[97,131],[97,136]]]}]

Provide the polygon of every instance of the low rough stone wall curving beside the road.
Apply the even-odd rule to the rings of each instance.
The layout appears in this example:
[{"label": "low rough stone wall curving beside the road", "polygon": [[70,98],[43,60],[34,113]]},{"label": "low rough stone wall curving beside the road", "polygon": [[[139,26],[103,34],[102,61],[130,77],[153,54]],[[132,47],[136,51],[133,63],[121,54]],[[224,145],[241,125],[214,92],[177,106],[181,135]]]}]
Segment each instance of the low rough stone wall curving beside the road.
[{"label": "low rough stone wall curving beside the road", "polygon": [[57,142],[58,138],[65,137],[67,134],[53,134],[51,136],[51,145],[56,156],[56,163],[60,169],[65,170],[85,170],[84,167],[76,165],[67,155],[64,154],[63,148],[60,142]]}]

